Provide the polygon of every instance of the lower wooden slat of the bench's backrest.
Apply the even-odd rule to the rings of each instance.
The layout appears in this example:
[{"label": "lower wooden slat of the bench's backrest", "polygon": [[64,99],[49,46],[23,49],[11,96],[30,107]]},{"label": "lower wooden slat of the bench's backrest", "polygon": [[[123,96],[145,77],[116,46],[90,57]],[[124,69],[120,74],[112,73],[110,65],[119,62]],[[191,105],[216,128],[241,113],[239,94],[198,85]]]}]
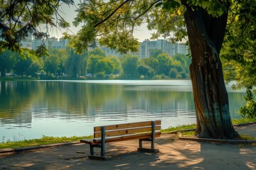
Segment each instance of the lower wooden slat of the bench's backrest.
[{"label": "lower wooden slat of the bench's backrest", "polygon": [[[129,128],[122,130],[107,130],[105,132],[106,137],[119,136],[119,135],[128,135],[139,132],[151,132],[152,127],[141,127],[141,128]],[[161,130],[161,126],[156,126],[155,130]],[[101,137],[101,132],[95,132],[94,137]]]}]

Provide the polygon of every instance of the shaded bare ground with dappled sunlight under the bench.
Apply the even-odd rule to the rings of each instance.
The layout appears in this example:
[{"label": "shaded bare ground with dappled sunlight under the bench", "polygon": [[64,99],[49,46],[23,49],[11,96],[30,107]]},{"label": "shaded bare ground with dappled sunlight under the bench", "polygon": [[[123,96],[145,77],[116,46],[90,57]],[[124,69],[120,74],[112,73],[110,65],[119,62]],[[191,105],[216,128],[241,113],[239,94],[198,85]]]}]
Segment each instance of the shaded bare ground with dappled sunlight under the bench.
[{"label": "shaded bare ground with dappled sunlight under the bench", "polygon": [[[256,137],[256,124],[237,127],[240,134]],[[146,144],[146,142],[145,142]],[[255,145],[231,145],[171,140],[170,134],[156,138],[156,149],[137,152],[137,140],[106,145],[112,159],[88,159],[89,145],[60,145],[18,153],[0,153],[0,169],[255,169]],[[97,151],[97,148],[95,149]],[[98,150],[100,152],[100,150]]]}]

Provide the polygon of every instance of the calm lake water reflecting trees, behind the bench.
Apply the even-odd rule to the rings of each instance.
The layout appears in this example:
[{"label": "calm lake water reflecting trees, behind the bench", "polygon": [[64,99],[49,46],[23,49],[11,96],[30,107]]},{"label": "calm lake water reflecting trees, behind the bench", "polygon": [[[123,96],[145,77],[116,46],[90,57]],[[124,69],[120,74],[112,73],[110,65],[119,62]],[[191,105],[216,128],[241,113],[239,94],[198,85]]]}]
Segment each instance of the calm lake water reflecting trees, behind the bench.
[{"label": "calm lake water reflecting trees, behind the bench", "polygon": [[[196,123],[191,81],[1,81],[0,142],[92,135],[96,125],[162,120]],[[228,88],[232,118],[241,91]]]}]

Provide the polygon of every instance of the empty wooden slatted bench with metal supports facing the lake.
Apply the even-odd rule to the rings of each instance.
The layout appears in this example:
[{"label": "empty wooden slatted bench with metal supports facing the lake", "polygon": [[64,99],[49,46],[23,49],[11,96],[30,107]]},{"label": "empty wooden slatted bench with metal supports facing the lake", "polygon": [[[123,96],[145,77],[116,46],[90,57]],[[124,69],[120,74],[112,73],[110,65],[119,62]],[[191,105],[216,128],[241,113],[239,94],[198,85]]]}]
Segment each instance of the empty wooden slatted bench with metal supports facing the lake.
[{"label": "empty wooden slatted bench with metal supports facing the lake", "polygon": [[[94,139],[80,140],[90,145],[90,159],[105,160],[105,143],[124,140],[139,140],[139,152],[159,152],[154,148],[155,137],[161,135],[161,120],[139,123],[106,125],[94,128]],[[150,141],[151,148],[143,148],[142,141]],[[100,156],[94,154],[94,147],[100,147]]]}]

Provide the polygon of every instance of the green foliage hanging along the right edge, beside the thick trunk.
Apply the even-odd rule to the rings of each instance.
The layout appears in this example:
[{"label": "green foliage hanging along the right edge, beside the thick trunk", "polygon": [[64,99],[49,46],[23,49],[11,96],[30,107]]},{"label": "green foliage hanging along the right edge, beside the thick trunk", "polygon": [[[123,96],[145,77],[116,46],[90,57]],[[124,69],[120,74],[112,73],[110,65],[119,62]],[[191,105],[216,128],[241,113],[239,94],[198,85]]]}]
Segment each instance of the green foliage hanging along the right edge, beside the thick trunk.
[{"label": "green foliage hanging along the right edge, beside the thick trunk", "polygon": [[247,89],[243,117],[256,117],[256,1],[233,1],[221,52],[225,78],[236,81],[236,89]]}]

